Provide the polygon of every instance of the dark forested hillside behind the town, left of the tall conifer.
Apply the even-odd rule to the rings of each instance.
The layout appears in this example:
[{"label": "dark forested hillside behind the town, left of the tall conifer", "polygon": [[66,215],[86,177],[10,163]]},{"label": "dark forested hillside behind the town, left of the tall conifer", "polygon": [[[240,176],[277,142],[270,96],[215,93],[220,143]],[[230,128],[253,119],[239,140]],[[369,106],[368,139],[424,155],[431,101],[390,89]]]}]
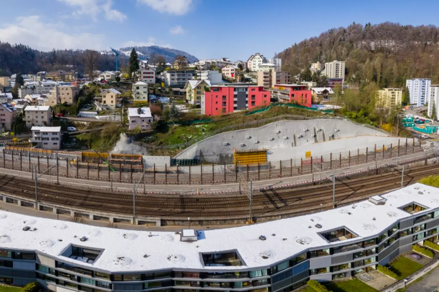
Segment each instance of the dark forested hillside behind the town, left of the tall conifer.
[{"label": "dark forested hillside behind the town, left of the tall conifer", "polygon": [[[1,36],[0,36],[1,37]],[[83,73],[83,50],[52,50],[42,52],[25,45],[11,45],[0,42],[0,76],[14,73],[36,74],[38,71],[76,70]],[[119,63],[123,66],[127,62],[126,56],[119,56]],[[99,70],[115,70],[115,56],[101,54],[97,60]]]}]

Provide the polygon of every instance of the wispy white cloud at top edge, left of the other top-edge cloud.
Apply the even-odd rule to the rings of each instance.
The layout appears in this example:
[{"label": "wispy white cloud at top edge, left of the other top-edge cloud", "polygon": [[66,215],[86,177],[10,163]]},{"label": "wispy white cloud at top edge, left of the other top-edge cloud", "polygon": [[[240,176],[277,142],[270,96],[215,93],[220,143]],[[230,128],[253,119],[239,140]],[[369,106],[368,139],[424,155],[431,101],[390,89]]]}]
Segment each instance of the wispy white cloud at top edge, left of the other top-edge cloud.
[{"label": "wispy white cloud at top edge, left of the other top-edge cloud", "polygon": [[103,15],[107,20],[124,21],[126,15],[122,12],[112,9],[112,0],[58,0],[72,7],[78,7],[73,11],[73,16],[89,15],[93,21]]}]

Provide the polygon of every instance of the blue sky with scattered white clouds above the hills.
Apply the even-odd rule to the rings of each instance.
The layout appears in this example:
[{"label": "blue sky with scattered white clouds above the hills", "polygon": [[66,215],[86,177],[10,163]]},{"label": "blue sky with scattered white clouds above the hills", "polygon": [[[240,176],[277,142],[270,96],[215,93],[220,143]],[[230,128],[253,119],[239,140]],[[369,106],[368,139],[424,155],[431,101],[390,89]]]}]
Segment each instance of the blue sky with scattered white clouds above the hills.
[{"label": "blue sky with scattered white clouds above the hills", "polygon": [[271,58],[353,21],[439,25],[437,0],[417,8],[408,0],[1,1],[1,42],[41,50],[157,45],[199,59],[247,60],[255,52]]}]

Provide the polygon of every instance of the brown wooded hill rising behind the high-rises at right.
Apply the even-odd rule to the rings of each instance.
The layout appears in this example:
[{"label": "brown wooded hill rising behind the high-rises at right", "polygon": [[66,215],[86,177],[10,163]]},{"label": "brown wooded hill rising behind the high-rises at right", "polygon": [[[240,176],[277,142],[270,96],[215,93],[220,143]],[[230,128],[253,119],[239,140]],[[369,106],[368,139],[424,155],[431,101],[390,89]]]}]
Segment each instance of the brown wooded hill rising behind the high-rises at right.
[{"label": "brown wooded hill rising behind the high-rises at right", "polygon": [[284,70],[294,75],[310,63],[344,60],[351,84],[403,87],[406,78],[439,81],[438,41],[439,28],[434,25],[353,23],[294,44],[277,56]]}]

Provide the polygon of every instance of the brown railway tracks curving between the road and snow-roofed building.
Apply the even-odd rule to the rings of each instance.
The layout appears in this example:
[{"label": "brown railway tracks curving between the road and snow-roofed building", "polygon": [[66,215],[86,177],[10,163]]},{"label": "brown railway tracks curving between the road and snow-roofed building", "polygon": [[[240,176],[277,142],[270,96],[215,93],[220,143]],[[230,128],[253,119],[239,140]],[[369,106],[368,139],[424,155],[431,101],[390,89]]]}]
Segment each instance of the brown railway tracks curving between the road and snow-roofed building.
[{"label": "brown railway tracks curving between the road and snow-roofed building", "polygon": [[[439,173],[439,165],[408,169],[405,184],[414,183],[423,176]],[[336,204],[359,201],[375,193],[383,193],[400,186],[400,173],[389,172],[380,176],[345,177],[337,180]],[[19,187],[17,187],[19,186]],[[14,176],[0,177],[0,191],[32,198],[32,181]],[[84,209],[132,214],[132,195],[118,192],[79,189],[51,183],[39,183],[42,201]],[[329,183],[300,186],[294,189],[255,191],[253,216],[294,215],[303,210],[318,210],[320,204],[328,208],[332,203]],[[246,218],[248,198],[245,195],[142,195],[136,197],[136,213],[140,216],[161,218]]]}]

